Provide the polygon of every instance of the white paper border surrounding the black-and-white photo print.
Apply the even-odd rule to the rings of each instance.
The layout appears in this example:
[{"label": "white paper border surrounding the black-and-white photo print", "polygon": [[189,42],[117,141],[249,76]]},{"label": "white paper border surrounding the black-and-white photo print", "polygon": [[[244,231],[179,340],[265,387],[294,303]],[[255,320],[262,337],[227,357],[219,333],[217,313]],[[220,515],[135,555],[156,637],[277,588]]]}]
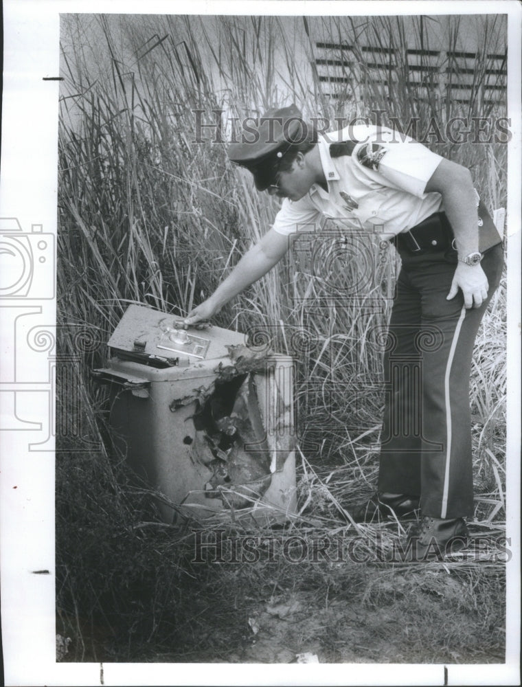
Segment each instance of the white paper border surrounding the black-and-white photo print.
[{"label": "white paper border surrounding the black-and-white photo print", "polygon": [[[5,0],[2,177],[0,216],[16,218],[21,232],[42,234],[46,250],[56,236],[58,170],[58,81],[60,13],[174,14],[170,1]],[[446,684],[519,684],[520,646],[520,326],[521,311],[521,5],[499,0],[444,2],[192,1],[183,14],[507,14],[508,117],[508,608],[506,664],[451,665]],[[44,80],[45,79],[45,80]],[[46,238],[47,237],[47,238]],[[41,238],[41,237],[38,237]],[[56,242],[55,242],[56,243]],[[45,254],[47,258],[51,253]],[[44,256],[45,259],[45,256]],[[53,258],[54,259],[54,258]],[[52,260],[50,261],[52,262]],[[54,264],[45,262],[45,279]],[[43,288],[43,287],[42,287]],[[54,294],[52,294],[54,295]],[[56,323],[52,295],[30,293],[0,307],[2,356],[16,357],[16,326],[23,315],[38,324]],[[22,322],[23,324],[23,322]],[[12,365],[15,363],[13,362]],[[1,431],[1,598],[6,685],[430,685],[444,684],[442,665],[339,664],[263,665],[56,663],[54,559],[54,453],[52,440],[27,450],[23,424],[37,425],[48,412],[52,370],[24,363],[2,378],[3,415],[13,411],[14,392],[24,394],[24,420]],[[38,380],[35,382],[34,380]],[[16,416],[16,407],[14,407]],[[49,416],[50,417],[50,416]],[[49,420],[50,421],[50,420]],[[31,438],[29,439],[31,440]],[[451,622],[451,619],[450,619]]]}]

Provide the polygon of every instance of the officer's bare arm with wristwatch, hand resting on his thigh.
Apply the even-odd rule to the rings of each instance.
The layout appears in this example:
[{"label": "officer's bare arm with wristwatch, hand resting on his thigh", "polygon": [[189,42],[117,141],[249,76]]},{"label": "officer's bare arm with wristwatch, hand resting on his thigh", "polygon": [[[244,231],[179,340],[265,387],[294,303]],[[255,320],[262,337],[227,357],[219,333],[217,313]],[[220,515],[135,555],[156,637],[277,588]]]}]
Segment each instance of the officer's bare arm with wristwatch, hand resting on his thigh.
[{"label": "officer's bare arm with wristwatch, hand resting on his thigh", "polygon": [[[455,162],[443,159],[429,179],[425,191],[436,191],[442,195],[444,212],[453,227],[459,258],[464,258],[479,249],[479,228],[477,200],[469,170]],[[488,295],[488,279],[479,264],[470,267],[459,262],[448,300],[464,295],[466,308],[479,308]]]}]

